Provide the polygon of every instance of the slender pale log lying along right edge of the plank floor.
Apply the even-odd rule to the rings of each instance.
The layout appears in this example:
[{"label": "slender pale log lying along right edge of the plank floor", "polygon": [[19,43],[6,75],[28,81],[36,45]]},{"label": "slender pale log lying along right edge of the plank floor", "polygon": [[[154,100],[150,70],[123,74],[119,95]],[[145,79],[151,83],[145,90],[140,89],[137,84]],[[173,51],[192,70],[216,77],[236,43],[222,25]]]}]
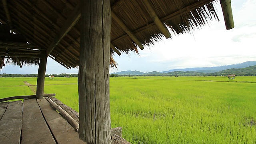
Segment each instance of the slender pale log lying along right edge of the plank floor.
[{"label": "slender pale log lying along right edge of the plank floor", "polygon": [[60,112],[60,114],[70,123],[70,125],[78,131],[79,124],[72,118],[63,108],[61,108],[58,104],[56,104],[54,101],[52,101],[50,98],[46,97],[46,100],[56,109]]}]

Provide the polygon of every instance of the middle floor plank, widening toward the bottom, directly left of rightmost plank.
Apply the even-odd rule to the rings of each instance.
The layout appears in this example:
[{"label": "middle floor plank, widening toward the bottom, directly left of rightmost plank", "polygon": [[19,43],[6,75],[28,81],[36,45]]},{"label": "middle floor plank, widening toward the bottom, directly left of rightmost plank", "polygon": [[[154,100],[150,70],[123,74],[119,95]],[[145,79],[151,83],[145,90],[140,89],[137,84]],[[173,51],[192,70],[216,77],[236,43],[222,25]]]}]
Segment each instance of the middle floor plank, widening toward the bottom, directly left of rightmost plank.
[{"label": "middle floor plank, widening toward the bottom, directly left of rightmost plank", "polygon": [[23,103],[21,144],[56,144],[35,98]]}]

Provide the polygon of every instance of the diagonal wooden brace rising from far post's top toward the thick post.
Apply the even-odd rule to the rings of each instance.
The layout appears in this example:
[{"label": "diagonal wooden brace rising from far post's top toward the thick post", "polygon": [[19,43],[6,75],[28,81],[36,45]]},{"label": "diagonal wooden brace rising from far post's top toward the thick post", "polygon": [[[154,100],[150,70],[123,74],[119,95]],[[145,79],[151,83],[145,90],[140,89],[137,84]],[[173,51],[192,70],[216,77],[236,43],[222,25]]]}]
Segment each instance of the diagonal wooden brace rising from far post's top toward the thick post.
[{"label": "diagonal wooden brace rising from far post's top toward the thick post", "polygon": [[60,28],[59,33],[56,35],[50,46],[47,48],[47,56],[52,52],[54,47],[60,42],[60,40],[70,31],[70,29],[78,22],[81,16],[80,3],[76,5],[70,17],[66,20],[63,27]]}]

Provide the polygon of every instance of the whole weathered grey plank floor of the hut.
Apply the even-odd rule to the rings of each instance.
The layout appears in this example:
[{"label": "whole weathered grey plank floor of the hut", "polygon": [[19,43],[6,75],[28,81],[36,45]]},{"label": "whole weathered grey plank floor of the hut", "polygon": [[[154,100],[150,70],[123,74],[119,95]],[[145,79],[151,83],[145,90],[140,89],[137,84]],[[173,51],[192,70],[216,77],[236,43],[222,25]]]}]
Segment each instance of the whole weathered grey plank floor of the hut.
[{"label": "whole weathered grey plank floor of the hut", "polygon": [[46,99],[0,103],[0,144],[86,144]]}]

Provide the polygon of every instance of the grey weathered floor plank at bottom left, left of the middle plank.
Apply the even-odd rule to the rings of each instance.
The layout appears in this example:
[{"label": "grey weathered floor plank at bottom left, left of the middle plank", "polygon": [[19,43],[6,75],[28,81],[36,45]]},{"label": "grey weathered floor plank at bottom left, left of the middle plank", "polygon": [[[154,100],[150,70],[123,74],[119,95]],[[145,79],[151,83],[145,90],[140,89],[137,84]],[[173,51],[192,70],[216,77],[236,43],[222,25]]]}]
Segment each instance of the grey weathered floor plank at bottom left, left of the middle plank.
[{"label": "grey weathered floor plank at bottom left, left of the middle plank", "polygon": [[0,121],[1,144],[19,144],[22,127],[22,101],[9,102]]}]

